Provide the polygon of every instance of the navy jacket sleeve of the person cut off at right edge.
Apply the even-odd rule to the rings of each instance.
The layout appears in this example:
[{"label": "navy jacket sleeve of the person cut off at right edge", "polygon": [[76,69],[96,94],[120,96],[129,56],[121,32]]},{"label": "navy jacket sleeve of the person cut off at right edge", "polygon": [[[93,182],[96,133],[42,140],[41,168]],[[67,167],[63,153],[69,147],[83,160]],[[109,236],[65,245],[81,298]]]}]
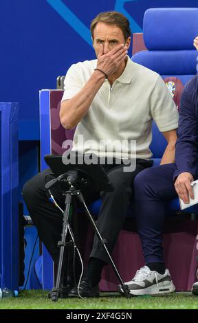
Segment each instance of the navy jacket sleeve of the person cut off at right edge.
[{"label": "navy jacket sleeve of the person cut off at right edge", "polygon": [[175,151],[174,178],[181,172],[198,175],[198,75],[189,80],[181,94]]}]

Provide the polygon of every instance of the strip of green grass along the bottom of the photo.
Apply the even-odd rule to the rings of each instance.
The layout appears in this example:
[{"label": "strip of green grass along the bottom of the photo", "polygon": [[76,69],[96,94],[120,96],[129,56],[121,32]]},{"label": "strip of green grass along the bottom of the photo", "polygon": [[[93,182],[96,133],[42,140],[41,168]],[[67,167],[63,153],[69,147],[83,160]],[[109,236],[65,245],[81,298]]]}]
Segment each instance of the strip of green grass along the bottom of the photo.
[{"label": "strip of green grass along the bottom of the photo", "polygon": [[67,298],[52,302],[47,298],[47,291],[27,290],[19,293],[18,298],[0,300],[0,309],[198,309],[198,296],[190,292],[130,299],[120,297],[117,293],[100,295],[100,298]]}]

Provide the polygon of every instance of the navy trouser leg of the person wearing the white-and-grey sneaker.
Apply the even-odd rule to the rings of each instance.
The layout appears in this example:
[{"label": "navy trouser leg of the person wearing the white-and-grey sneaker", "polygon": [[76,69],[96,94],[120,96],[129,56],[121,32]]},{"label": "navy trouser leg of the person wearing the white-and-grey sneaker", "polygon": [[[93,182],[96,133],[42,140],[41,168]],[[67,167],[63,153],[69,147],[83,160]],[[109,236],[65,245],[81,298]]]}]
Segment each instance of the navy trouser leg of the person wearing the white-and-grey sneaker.
[{"label": "navy trouser leg of the person wearing the white-and-grey sneaker", "polygon": [[166,201],[177,197],[173,174],[175,164],[143,170],[135,177],[136,221],[145,263],[164,263],[162,232]]}]

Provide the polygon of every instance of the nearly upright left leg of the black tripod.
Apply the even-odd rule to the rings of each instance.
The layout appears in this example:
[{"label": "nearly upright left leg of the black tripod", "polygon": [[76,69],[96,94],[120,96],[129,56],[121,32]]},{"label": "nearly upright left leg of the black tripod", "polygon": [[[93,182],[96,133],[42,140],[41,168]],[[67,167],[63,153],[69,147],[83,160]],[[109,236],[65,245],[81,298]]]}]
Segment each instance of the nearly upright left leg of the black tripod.
[{"label": "nearly upright left leg of the black tripod", "polygon": [[57,271],[57,277],[56,277],[56,286],[53,289],[53,296],[51,297],[51,300],[53,302],[57,302],[58,300],[58,293],[60,288],[60,281],[61,281],[61,271],[63,267],[63,255],[65,250],[65,240],[67,236],[67,228],[68,228],[68,221],[69,221],[69,211],[72,203],[72,196],[70,194],[66,194],[65,198],[65,212],[63,214],[63,232],[62,232],[62,240],[58,242],[58,246],[60,248],[60,254],[58,259],[58,271]]}]

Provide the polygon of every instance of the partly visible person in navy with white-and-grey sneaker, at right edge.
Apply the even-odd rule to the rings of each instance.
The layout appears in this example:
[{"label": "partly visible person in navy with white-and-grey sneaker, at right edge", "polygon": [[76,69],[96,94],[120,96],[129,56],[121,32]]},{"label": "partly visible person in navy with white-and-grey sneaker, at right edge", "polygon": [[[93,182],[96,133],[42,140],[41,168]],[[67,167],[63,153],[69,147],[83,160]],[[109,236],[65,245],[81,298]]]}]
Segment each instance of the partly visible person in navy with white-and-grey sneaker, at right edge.
[{"label": "partly visible person in navy with white-and-grey sneaker, at right edge", "polygon": [[[198,37],[194,44],[198,49]],[[172,285],[164,281],[168,275],[162,249],[165,205],[178,196],[184,203],[189,203],[189,196],[193,198],[190,183],[198,176],[197,156],[198,75],[187,82],[181,95],[175,164],[149,168],[135,177],[136,220],[146,265],[126,282],[133,295],[164,293],[163,288]],[[198,295],[198,282],[192,293]]]}]

